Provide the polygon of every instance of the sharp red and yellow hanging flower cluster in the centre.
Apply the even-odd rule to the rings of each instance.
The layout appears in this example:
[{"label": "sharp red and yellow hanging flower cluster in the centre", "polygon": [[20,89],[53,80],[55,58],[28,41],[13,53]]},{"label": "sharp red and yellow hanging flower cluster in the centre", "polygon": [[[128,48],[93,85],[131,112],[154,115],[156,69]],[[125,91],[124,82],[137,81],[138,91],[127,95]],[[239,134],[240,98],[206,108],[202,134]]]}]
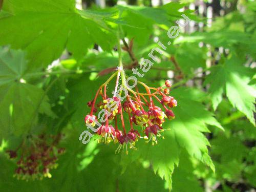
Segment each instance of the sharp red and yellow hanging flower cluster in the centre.
[{"label": "sharp red and yellow hanging flower cluster in the centre", "polygon": [[[166,80],[165,85],[158,88],[148,87],[145,83],[138,81],[144,87],[146,93],[140,93],[137,86],[136,91],[133,91],[123,86],[122,83],[121,87],[126,89],[126,93],[125,96],[121,97],[122,91],[117,92],[119,81],[119,73],[117,73],[114,97],[110,97],[106,93],[106,86],[113,77],[114,75],[103,83],[98,89],[95,98],[88,102],[91,113],[84,119],[89,127],[98,126],[97,129],[94,128],[96,129],[96,134],[99,135],[98,142],[118,142],[119,146],[116,152],[119,153],[121,150],[123,152],[125,149],[127,154],[128,147],[136,149],[135,142],[140,138],[145,139],[146,143],[152,142],[152,145],[158,143],[157,137],[164,139],[161,135],[161,132],[164,131],[162,123],[166,118],[169,120],[175,118],[171,108],[177,106],[177,101],[174,97],[169,96],[170,87],[172,86],[170,81]],[[96,104],[98,97],[101,97],[101,99]],[[162,108],[157,106],[155,102],[160,104]],[[100,114],[103,114],[101,118],[100,114],[96,116],[96,108],[101,110]],[[130,122],[129,130],[124,124],[124,114],[127,114]],[[118,120],[121,120],[122,130],[118,127]],[[141,134],[136,130],[137,127],[141,127]]]}]

